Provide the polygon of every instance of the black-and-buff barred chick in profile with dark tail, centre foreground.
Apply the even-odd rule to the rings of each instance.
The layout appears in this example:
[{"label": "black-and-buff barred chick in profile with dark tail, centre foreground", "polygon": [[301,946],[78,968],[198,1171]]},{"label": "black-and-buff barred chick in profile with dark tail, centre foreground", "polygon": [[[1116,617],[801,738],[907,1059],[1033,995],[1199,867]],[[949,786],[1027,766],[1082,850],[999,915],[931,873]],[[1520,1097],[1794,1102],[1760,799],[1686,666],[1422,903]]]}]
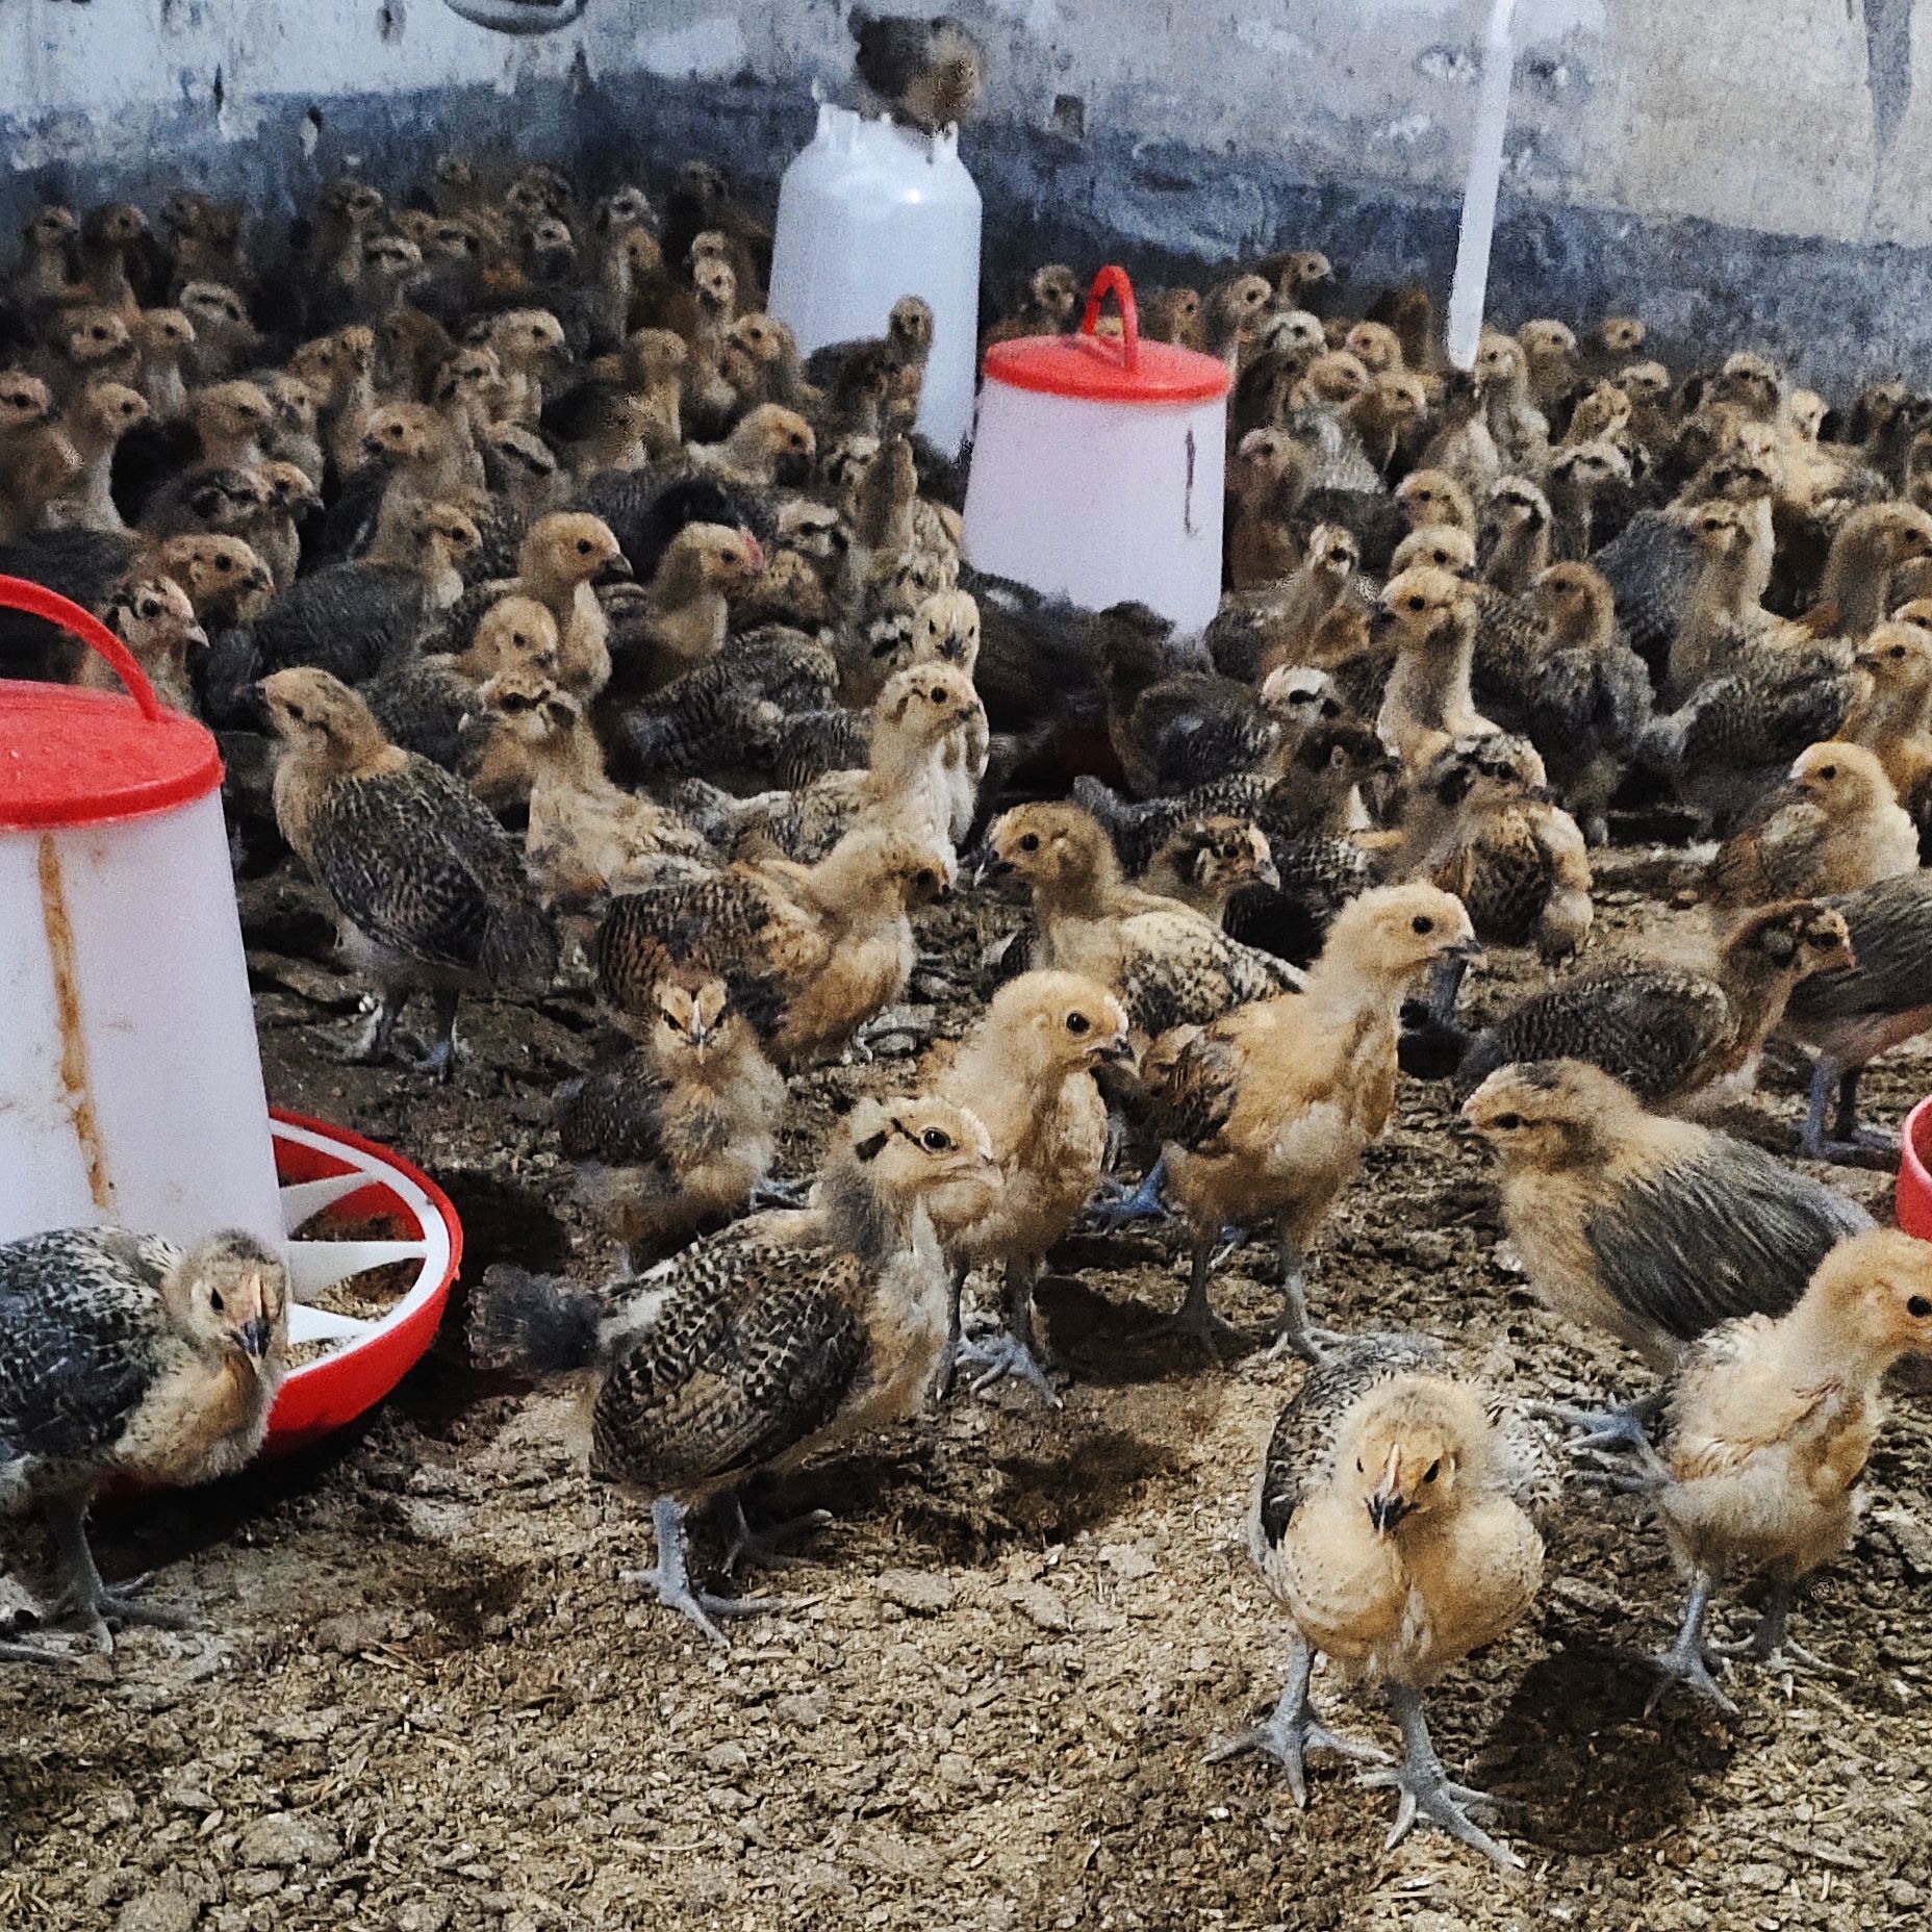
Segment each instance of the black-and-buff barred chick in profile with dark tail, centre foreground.
[{"label": "black-and-buff barred chick in profile with dark tail, centre foreground", "polygon": [[655,1501],[657,1563],[626,1573],[713,1642],[719,1619],[782,1607],[692,1584],[686,1513],[717,1501],[753,1548],[738,1490],[914,1414],[947,1356],[951,1269],[933,1223],[985,1213],[1001,1186],[980,1119],[943,1099],[862,1101],[813,1206],[705,1236],[616,1296],[493,1267],[471,1350],[576,1378],[591,1468]]}]

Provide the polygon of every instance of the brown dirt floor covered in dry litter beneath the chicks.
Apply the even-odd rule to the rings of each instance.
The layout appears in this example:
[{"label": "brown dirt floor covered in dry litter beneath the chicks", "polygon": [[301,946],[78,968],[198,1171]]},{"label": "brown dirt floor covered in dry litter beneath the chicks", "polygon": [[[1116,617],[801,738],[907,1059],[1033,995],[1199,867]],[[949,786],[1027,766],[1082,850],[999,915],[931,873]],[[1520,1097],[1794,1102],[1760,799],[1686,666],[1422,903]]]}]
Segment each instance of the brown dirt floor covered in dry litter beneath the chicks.
[{"label": "brown dirt floor covered in dry litter beneath the chicks", "polygon": [[[1694,922],[1650,896],[1681,883],[1663,856],[1607,860],[1607,941],[1685,939]],[[477,1005],[452,1090],[348,1068],[330,1047],[357,989],[309,891],[259,881],[245,916],[272,1097],[431,1169],[471,1275],[593,1271],[545,1130],[593,1051],[589,1003]],[[929,941],[964,956],[985,920],[939,908]],[[1532,976],[1492,956],[1474,993]],[[877,1061],[802,1082],[788,1171],[902,1078]],[[1928,1078],[1926,1055],[1895,1055],[1870,1117],[1895,1122]],[[1772,1070],[1731,1124],[1789,1146],[1797,1111]],[[1884,1175],[1839,1179],[1889,1202]],[[1859,1544],[1801,1607],[1847,1681],[1737,1677],[1729,1729],[1677,1698],[1646,1712],[1627,1658],[1667,1636],[1677,1580],[1636,1505],[1575,1492],[1536,1613],[1432,1702],[1455,1774],[1509,1801],[1530,1861],[1509,1880],[1430,1830],[1383,1851],[1389,1793],[1325,1764],[1296,1812],[1271,1764],[1206,1762],[1281,1685],[1244,1515],[1298,1370],[1150,1341],[1180,1289],[1155,1242],[1088,1240],[1061,1269],[1041,1306],[1074,1372],[1065,1408],[962,1395],[808,1472],[786,1501],[837,1520],[767,1584],[796,1607],[730,1650],[618,1582],[647,1561],[645,1511],[585,1480],[568,1403],[464,1364],[460,1302],[327,1455],[106,1511],[108,1575],[153,1569],[205,1629],[0,1675],[0,1926],[1776,1932],[1932,1907],[1932,1405],[1899,1405]],[[1260,1329],[1265,1279],[1262,1250],[1238,1256],[1223,1312]],[[1310,1293],[1318,1320],[1453,1337],[1528,1397],[1634,1372],[1524,1293],[1443,1090],[1405,1084]],[[43,1577],[37,1532],[6,1555]]]}]

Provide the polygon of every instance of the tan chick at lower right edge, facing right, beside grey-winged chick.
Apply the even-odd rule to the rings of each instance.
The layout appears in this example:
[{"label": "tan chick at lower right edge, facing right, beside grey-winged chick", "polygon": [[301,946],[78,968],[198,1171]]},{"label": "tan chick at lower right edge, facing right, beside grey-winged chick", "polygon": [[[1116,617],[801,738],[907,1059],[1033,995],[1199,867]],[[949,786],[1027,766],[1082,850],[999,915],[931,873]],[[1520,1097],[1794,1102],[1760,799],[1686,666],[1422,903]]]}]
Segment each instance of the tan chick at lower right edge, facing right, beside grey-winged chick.
[{"label": "tan chick at lower right edge, facing right, beside grey-winged chick", "polygon": [[1737,1706],[1710,1675],[1704,1619],[1727,1577],[1766,1573],[1754,1634],[1719,1654],[1781,1673],[1835,1675],[1791,1642],[1799,1578],[1851,1548],[1859,1478],[1884,1428],[1882,1381],[1932,1350],[1932,1244],[1874,1229],[1833,1248],[1799,1304],[1727,1321],[1696,1341],[1669,1389],[1654,1503],[1689,1578],[1667,1683]]}]

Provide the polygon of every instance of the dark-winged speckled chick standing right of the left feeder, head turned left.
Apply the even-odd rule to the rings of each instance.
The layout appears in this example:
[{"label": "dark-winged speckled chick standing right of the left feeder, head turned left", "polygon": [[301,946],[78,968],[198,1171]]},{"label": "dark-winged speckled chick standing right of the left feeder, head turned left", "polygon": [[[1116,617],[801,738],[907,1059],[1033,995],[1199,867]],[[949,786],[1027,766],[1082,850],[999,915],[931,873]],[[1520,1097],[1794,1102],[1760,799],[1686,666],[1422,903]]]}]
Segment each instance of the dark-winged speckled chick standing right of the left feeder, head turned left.
[{"label": "dark-winged speckled chick standing right of the left feeder, head turned left", "polygon": [[437,1045],[421,1070],[448,1080],[464,993],[535,993],[556,974],[556,933],[524,856],[462,779],[392,746],[327,670],[278,670],[261,697],[282,740],[276,823],[379,995],[355,1055],[386,1055],[410,993],[429,991]]}]

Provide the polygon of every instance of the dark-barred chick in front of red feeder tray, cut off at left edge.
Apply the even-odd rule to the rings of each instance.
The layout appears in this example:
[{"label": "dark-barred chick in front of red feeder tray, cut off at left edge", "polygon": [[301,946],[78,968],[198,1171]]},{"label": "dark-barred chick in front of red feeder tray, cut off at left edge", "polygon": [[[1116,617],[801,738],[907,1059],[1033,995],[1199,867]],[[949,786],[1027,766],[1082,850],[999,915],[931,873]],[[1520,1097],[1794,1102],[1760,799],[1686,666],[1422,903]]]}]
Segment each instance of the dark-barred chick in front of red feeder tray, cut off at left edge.
[{"label": "dark-barred chick in front of red feeder tray, cut off at left edge", "polygon": [[[253,1236],[184,1252],[112,1227],[0,1244],[0,1509],[39,1503],[64,1594],[50,1621],[182,1629],[100,1580],[87,1505],[116,1476],[213,1482],[261,1447],[288,1368],[288,1275]],[[44,1660],[25,1644],[0,1658]]]}]

